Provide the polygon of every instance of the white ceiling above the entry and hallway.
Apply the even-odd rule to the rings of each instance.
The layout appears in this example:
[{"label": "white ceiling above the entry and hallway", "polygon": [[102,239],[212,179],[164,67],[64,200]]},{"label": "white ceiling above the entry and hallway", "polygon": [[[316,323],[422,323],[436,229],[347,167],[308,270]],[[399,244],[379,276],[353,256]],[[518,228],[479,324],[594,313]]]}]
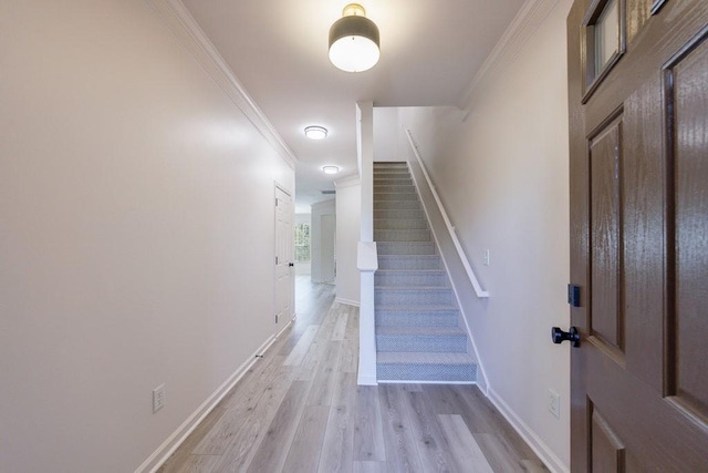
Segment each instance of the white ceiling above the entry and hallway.
[{"label": "white ceiling above the entry and hallway", "polygon": [[[346,0],[183,0],[299,160],[298,213],[356,173],[356,101],[374,106],[460,105],[524,0],[361,0],[381,31],[381,61],[361,73],[327,59]],[[329,130],[323,141],[308,125]],[[335,176],[322,166],[340,167]]]}]

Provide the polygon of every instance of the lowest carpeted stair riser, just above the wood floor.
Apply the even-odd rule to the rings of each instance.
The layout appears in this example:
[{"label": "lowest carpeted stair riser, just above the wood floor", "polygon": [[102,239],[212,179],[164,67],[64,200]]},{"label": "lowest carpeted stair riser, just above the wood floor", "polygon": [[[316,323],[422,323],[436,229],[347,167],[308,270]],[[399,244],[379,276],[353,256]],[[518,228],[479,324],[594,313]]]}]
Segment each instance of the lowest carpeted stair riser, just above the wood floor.
[{"label": "lowest carpeted stair riser, just above the wood floor", "polygon": [[376,364],[376,378],[385,381],[476,382],[476,364]]}]

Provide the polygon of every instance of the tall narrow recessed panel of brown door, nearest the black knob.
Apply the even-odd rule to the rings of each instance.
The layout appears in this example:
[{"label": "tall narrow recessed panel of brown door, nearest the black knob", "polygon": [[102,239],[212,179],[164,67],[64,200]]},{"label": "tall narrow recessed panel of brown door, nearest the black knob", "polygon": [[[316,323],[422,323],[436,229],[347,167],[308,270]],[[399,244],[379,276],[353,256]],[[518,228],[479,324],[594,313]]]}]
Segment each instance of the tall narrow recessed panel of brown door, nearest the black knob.
[{"label": "tall narrow recessed panel of brown door, nearest the black knob", "polygon": [[664,313],[667,279],[666,197],[660,78],[649,80],[624,102],[625,336],[627,370],[664,392]]}]

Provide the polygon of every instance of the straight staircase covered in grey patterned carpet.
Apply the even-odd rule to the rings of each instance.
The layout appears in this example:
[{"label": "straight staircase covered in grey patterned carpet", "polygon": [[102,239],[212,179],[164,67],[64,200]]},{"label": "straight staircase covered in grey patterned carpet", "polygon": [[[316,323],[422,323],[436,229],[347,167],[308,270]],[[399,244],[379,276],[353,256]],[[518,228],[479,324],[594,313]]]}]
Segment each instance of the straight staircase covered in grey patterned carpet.
[{"label": "straight staircase covered in grey patterned carpet", "polygon": [[374,163],[376,378],[475,382],[467,330],[406,163]]}]

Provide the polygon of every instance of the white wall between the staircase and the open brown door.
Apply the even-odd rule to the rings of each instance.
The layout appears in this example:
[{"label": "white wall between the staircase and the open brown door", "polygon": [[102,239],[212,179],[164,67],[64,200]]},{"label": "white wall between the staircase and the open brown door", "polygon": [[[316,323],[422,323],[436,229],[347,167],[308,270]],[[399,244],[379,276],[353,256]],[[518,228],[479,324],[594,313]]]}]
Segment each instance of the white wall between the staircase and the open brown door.
[{"label": "white wall between the staircase and the open brown door", "polygon": [[[565,17],[562,0],[465,122],[451,109],[402,109],[467,255],[489,290],[468,313],[490,395],[570,465]],[[400,143],[400,141],[399,141]],[[491,265],[482,265],[482,253]],[[561,394],[561,419],[548,411]],[[520,425],[518,423],[518,425]]]}]

